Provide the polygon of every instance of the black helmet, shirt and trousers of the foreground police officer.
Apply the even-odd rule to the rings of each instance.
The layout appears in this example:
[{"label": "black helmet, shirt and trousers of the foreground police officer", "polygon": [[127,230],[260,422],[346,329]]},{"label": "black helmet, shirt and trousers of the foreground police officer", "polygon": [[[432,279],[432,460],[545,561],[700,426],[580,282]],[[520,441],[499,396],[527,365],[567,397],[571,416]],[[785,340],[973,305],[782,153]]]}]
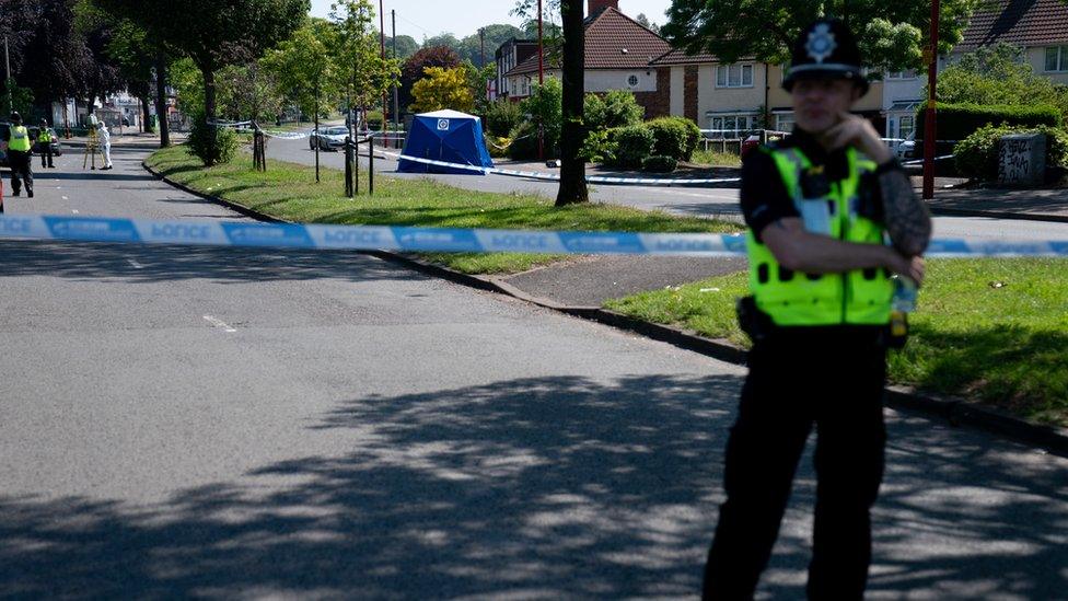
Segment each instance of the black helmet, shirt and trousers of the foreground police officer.
[{"label": "black helmet, shirt and trousers of the foreground police officer", "polygon": [[[824,32],[829,27],[838,42],[837,51],[824,57],[829,70],[851,66],[846,77],[860,77],[859,51],[849,32],[840,22],[817,21],[806,34],[820,24],[825,25]],[[813,62],[812,39],[802,35],[794,67]],[[820,51],[817,47],[815,53]],[[801,150],[815,167],[810,172],[821,174],[814,181],[802,178],[803,188],[825,189],[849,177],[846,151],[827,152],[801,129],[778,147]],[[899,166],[892,161],[861,176],[861,211],[874,221],[882,220],[878,174],[889,169]],[[819,189],[808,192],[806,197],[822,196]],[[801,217],[775,161],[763,151],[751,152],[743,161],[741,205],[757,240],[779,219]],[[808,596],[862,599],[871,559],[870,509],[884,469],[886,328],[779,327],[767,315],[755,321],[759,338],[748,355],[750,372],[727,444],[728,498],[720,507],[708,555],[704,598],[753,597],[778,538],[797,465],[815,428],[819,482]]]}]

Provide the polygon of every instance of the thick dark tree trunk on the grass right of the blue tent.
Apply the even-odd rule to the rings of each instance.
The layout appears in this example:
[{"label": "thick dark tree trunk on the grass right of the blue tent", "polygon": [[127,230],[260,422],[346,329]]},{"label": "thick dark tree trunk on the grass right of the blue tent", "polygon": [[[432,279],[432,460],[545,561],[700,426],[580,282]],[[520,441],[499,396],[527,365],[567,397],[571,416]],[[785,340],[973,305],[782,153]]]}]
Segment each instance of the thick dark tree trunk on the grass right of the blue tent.
[{"label": "thick dark tree trunk on the grass right of the blue tent", "polygon": [[560,189],[556,206],[588,203],[585,161],[579,158],[585,142],[583,105],[585,100],[585,32],[581,0],[565,0],[560,5],[564,21],[564,124],[560,131]]}]

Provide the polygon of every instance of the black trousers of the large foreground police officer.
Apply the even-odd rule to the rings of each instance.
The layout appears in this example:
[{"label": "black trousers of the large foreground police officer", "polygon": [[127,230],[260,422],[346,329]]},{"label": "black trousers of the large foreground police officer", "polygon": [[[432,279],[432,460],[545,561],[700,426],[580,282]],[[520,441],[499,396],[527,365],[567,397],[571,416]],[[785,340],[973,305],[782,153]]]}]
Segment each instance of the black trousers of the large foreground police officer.
[{"label": "black trousers of the large foreground police officer", "polygon": [[884,466],[886,351],[873,328],[779,328],[750,354],[704,599],[752,599],[816,430],[809,599],[862,599]]}]

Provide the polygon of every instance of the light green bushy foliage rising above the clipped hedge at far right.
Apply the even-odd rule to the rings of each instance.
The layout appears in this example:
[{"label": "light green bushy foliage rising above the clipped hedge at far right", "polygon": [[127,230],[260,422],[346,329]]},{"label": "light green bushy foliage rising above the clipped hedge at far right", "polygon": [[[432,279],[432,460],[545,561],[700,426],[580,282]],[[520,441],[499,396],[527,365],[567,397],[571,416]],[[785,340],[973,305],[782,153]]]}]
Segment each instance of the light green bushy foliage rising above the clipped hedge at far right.
[{"label": "light green bushy foliage rising above the clipped hedge at far right", "polygon": [[938,76],[938,96],[948,104],[1048,104],[1068,120],[1068,86],[1036,76],[1024,49],[1011,44],[982,46],[947,67]]}]

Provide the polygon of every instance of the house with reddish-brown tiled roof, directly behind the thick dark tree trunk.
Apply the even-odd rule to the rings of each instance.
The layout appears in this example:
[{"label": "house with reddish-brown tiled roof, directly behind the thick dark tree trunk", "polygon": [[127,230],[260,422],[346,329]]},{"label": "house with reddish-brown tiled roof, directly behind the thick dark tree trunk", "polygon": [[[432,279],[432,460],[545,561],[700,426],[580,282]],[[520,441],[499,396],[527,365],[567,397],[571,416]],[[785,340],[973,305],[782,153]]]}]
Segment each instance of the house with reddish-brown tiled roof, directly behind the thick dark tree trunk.
[{"label": "house with reddish-brown tiled roof, directly behind the thick dark tree trunk", "polygon": [[[671,50],[664,38],[619,10],[619,0],[588,0],[585,19],[585,91],[629,90],[646,117],[668,115],[668,70],[650,62]],[[545,77],[559,78],[560,67],[546,53]],[[509,99],[522,100],[538,81],[538,55],[532,54],[504,74]]]}]

